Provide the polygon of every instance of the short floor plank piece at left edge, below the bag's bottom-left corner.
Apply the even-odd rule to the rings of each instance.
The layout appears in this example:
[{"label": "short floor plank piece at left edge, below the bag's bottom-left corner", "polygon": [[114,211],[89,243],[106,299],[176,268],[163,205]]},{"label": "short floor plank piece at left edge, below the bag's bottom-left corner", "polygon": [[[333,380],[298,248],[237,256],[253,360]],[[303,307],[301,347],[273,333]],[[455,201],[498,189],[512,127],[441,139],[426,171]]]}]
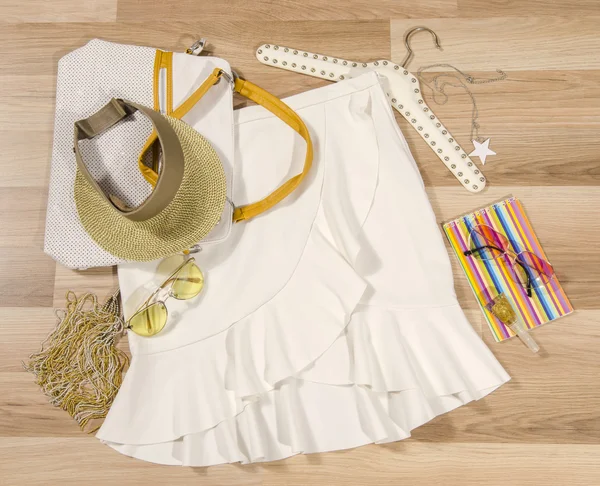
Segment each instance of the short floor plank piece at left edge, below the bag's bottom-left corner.
[{"label": "short floor plank piece at left edge, below the bag's bottom-left corner", "polygon": [[0,269],[0,307],[52,305],[55,263],[41,251],[4,247]]}]

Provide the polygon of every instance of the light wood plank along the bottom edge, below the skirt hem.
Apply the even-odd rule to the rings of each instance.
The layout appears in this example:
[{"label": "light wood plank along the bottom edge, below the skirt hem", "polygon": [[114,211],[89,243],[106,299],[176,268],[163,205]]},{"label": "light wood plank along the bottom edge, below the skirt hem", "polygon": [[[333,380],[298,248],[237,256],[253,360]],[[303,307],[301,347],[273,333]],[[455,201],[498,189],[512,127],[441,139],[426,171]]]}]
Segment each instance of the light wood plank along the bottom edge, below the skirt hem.
[{"label": "light wood plank along the bottom edge, below the skirt hem", "polygon": [[[52,453],[48,453],[52,451]],[[403,441],[385,446],[319,455],[301,455],[270,465],[177,468],[142,463],[87,438],[0,439],[0,472],[7,484],[45,485],[111,482],[220,486],[356,485],[396,486],[595,486],[600,466],[597,445],[427,444]],[[27,468],[10,468],[27,457]],[[68,457],[68,461],[57,461]],[[527,460],[529,459],[529,460]],[[2,469],[6,469],[2,471]],[[426,483],[423,483],[426,478]]]}]

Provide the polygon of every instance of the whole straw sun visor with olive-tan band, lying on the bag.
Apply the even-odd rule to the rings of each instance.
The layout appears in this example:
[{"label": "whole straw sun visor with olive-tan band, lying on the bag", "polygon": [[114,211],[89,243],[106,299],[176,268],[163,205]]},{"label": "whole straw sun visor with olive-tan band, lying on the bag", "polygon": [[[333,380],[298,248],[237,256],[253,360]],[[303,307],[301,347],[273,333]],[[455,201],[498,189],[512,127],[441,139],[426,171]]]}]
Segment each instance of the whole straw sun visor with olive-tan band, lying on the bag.
[{"label": "whole straw sun visor with olive-tan band, lying on the bag", "polygon": [[[152,193],[141,205],[130,208],[105,194],[92,178],[78,141],[95,137],[136,110],[154,125],[162,163]],[[149,261],[190,248],[221,217],[227,195],[221,161],[202,135],[176,118],[112,99],[94,115],[75,123],[75,154],[74,197],[81,223],[99,246],[119,258]]]}]

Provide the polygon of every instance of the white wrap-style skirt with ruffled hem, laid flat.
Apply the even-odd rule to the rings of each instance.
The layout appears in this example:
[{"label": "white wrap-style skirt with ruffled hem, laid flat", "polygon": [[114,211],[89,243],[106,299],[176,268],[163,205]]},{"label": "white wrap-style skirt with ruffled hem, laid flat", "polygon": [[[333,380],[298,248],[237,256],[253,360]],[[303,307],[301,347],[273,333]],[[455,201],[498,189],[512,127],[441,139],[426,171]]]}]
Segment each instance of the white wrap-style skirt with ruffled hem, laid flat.
[{"label": "white wrap-style skirt with ruffled hem, laid flat", "polygon": [[[315,144],[310,181],[196,255],[206,289],[169,300],[98,437],[162,464],[282,459],[383,443],[509,377],[460,309],[441,233],[375,73],[285,100]],[[234,197],[298,172],[304,144],[236,114]],[[119,266],[127,302],[157,263]]]}]

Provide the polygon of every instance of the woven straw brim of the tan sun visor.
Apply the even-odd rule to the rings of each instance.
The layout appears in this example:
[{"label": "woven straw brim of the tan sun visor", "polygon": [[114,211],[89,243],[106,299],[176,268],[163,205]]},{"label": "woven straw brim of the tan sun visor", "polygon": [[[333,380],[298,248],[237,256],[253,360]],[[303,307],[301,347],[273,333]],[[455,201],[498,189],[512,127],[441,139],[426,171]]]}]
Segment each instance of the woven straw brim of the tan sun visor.
[{"label": "woven straw brim of the tan sun visor", "polygon": [[227,184],[219,156],[189,125],[165,118],[181,142],[184,175],[171,203],[156,216],[129,220],[77,171],[74,193],[81,224],[99,246],[117,257],[149,261],[185,250],[204,238],[223,212]]}]

